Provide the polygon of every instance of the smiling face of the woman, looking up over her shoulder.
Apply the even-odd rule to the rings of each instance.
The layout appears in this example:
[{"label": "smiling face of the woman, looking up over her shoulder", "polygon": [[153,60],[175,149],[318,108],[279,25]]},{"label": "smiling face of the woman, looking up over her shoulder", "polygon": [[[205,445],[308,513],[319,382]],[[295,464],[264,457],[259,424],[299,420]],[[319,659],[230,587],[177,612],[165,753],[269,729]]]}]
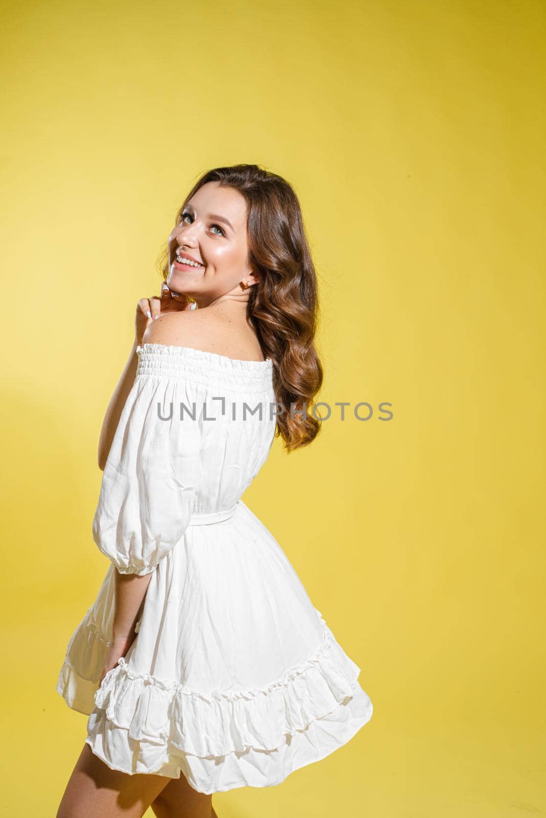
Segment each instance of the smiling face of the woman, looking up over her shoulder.
[{"label": "smiling face of the woman, looking up over her shoulder", "polygon": [[[255,284],[249,264],[246,200],[233,187],[207,182],[187,203],[169,236],[167,284],[205,307],[222,295],[244,294]],[[177,260],[189,256],[199,266]],[[250,289],[250,288],[249,288]]]}]

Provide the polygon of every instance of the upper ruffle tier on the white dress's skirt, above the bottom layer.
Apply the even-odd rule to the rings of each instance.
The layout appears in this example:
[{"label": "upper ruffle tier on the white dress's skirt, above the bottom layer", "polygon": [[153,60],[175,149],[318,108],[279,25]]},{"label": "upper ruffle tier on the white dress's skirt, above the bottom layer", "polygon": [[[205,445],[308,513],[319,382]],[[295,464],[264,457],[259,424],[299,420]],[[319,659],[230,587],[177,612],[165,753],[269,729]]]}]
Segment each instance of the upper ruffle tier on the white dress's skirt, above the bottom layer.
[{"label": "upper ruffle tier on the white dress's skirt, above the bottom layer", "polygon": [[95,707],[131,739],[208,757],[273,750],[353,695],[360,668],[337,644],[322,614],[323,643],[308,662],[264,689],[203,694],[133,672],[122,657],[102,680]]}]

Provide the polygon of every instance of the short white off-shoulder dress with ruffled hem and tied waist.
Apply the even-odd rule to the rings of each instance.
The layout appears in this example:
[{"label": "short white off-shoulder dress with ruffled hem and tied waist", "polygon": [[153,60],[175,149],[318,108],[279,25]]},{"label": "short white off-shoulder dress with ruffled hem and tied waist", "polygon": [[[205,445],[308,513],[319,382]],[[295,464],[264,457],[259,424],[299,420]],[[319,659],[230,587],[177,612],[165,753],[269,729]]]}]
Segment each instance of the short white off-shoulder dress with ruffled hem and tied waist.
[{"label": "short white off-shoulder dress with ruffled hem and tied waist", "polygon": [[[137,353],[93,519],[111,565],[56,690],[88,715],[85,741],[112,769],[182,771],[201,793],[280,784],[349,741],[372,702],[240,499],[273,443],[273,362],[164,344]],[[116,569],[152,577],[137,636],[99,685]]]}]

